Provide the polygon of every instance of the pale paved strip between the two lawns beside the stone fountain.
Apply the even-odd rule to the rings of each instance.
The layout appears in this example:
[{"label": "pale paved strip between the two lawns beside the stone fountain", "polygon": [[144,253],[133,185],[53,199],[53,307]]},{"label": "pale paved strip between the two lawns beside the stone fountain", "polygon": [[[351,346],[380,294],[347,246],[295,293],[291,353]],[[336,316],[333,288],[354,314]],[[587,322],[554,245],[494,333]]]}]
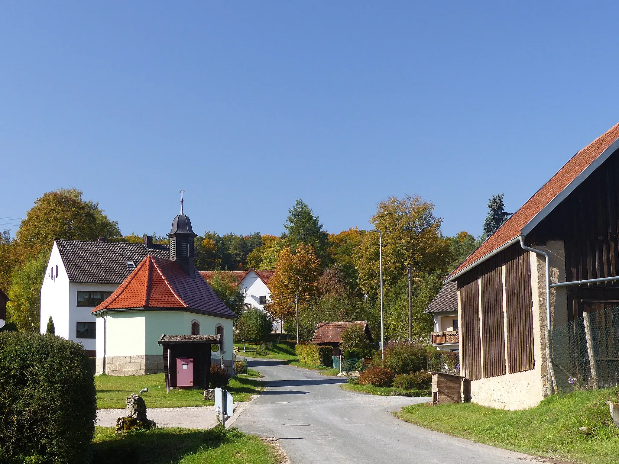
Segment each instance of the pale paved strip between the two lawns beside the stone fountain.
[{"label": "pale paved strip between the two lawns beside the stone fountain", "polygon": [[[235,415],[226,421],[226,427],[231,427],[236,418],[243,412],[247,402],[235,403]],[[113,427],[116,418],[124,415],[124,409],[97,410],[97,425]],[[210,429],[217,425],[215,406],[190,406],[188,408],[150,408],[147,417],[160,427],[186,427],[188,429]]]}]

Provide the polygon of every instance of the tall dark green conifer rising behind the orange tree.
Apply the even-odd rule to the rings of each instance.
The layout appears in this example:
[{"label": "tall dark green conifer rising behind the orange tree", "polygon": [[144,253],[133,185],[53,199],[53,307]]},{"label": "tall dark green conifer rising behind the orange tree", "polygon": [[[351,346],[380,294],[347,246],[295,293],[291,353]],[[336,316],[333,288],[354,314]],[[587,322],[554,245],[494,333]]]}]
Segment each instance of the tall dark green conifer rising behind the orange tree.
[{"label": "tall dark green conifer rising behind the orange tree", "polygon": [[324,265],[329,263],[331,259],[327,253],[329,234],[322,230],[318,216],[314,216],[309,206],[301,199],[298,199],[295,205],[288,210],[288,220],[284,228],[288,232],[288,243],[292,249],[295,249],[299,243],[311,245],[321,262]]}]

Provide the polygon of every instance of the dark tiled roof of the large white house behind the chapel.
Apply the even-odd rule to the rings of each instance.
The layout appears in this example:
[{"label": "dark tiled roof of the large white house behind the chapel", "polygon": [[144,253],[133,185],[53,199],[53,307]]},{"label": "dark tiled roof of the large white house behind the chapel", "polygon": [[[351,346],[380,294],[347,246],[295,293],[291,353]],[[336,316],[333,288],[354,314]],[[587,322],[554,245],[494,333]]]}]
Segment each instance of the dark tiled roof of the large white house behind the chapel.
[{"label": "dark tiled roof of the large white house behind the chapel", "polygon": [[56,240],[64,267],[72,282],[122,283],[147,255],[170,257],[167,245],[153,244],[147,248],[143,243],[87,242],[80,240]]}]

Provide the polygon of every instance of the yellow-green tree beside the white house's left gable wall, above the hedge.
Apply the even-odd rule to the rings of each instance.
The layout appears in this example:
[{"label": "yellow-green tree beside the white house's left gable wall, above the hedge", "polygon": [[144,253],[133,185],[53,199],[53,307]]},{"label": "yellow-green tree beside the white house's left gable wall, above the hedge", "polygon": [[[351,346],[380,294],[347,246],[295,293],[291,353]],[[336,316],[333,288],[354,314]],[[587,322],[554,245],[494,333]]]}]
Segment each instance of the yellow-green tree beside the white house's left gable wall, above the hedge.
[{"label": "yellow-green tree beside the white house's left gable wall, above the hedge", "polygon": [[6,305],[7,319],[17,328],[38,332],[40,326],[41,285],[50,259],[48,249],[30,256],[23,265],[15,266],[11,273],[11,286]]}]

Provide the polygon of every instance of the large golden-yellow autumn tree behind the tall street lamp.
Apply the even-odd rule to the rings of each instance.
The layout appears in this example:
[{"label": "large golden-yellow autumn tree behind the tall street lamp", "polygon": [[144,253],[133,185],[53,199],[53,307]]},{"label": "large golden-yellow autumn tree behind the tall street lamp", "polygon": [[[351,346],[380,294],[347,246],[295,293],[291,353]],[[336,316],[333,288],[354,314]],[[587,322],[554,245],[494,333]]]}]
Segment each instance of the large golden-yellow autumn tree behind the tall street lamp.
[{"label": "large golden-yellow autumn tree behind the tall street lamp", "polygon": [[[390,197],[378,204],[371,223],[383,233],[385,286],[396,285],[409,264],[416,270],[447,272],[451,252],[441,233],[442,222],[434,215],[434,205],[417,195]],[[366,233],[355,251],[358,286],[374,296],[379,288],[378,244],[378,234]],[[417,275],[418,271],[414,272]]]}]

